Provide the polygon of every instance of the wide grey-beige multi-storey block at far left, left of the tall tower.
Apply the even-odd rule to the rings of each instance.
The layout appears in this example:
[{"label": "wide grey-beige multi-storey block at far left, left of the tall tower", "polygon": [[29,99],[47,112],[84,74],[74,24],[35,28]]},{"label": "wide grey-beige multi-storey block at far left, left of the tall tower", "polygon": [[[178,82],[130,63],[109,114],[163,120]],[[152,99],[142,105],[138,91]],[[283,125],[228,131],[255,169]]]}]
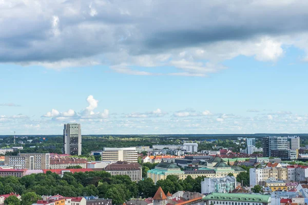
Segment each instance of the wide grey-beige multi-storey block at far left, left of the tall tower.
[{"label": "wide grey-beige multi-storey block at far left, left of the tall tower", "polygon": [[50,169],[49,153],[21,153],[17,156],[5,156],[4,163],[15,169]]}]

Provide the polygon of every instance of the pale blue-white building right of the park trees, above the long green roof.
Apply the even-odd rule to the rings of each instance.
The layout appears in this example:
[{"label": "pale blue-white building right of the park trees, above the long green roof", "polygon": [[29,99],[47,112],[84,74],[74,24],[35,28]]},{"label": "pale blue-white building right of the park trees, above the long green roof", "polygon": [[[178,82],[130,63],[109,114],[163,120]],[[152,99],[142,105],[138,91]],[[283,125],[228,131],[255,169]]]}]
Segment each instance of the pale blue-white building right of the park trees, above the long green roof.
[{"label": "pale blue-white building right of the park trees, above the long green roof", "polygon": [[236,188],[236,178],[225,176],[221,178],[204,178],[201,182],[201,194],[229,193]]}]

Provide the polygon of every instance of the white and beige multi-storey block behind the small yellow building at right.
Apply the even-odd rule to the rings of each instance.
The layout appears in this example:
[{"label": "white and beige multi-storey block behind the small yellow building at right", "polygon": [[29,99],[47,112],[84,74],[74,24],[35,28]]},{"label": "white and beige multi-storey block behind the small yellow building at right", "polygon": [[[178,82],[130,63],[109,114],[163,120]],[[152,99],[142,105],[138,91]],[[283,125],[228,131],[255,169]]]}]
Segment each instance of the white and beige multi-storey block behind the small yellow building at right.
[{"label": "white and beige multi-storey block behind the small yellow building at right", "polygon": [[276,180],[287,180],[287,168],[267,167],[267,168],[251,168],[249,170],[249,181],[251,186],[264,185],[264,181],[269,178]]}]

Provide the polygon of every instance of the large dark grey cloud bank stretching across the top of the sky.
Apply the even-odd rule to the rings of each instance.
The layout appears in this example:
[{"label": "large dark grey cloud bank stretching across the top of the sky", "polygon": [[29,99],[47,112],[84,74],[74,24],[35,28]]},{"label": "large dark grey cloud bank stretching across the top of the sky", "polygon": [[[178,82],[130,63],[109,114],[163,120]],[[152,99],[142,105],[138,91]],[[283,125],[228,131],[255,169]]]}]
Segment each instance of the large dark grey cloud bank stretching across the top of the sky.
[{"label": "large dark grey cloud bank stretching across the top of the sky", "polygon": [[[308,33],[307,7],[308,2],[300,0],[6,1],[0,8],[0,62],[53,64],[87,58],[99,64],[144,66],[136,57],[230,40],[245,44],[260,36],[288,36],[285,43],[292,44],[292,35]],[[242,54],[229,47],[221,50],[231,57]],[[259,52],[252,50],[247,55]]]}]

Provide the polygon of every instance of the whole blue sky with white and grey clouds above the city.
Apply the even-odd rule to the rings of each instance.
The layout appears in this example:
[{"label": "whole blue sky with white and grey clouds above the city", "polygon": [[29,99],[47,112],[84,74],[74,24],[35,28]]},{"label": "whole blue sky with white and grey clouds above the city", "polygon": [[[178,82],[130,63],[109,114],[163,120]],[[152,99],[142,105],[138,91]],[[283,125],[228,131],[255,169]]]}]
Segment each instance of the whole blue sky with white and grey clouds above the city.
[{"label": "whole blue sky with white and grey clouds above the city", "polygon": [[0,0],[0,135],[308,133],[307,8]]}]

